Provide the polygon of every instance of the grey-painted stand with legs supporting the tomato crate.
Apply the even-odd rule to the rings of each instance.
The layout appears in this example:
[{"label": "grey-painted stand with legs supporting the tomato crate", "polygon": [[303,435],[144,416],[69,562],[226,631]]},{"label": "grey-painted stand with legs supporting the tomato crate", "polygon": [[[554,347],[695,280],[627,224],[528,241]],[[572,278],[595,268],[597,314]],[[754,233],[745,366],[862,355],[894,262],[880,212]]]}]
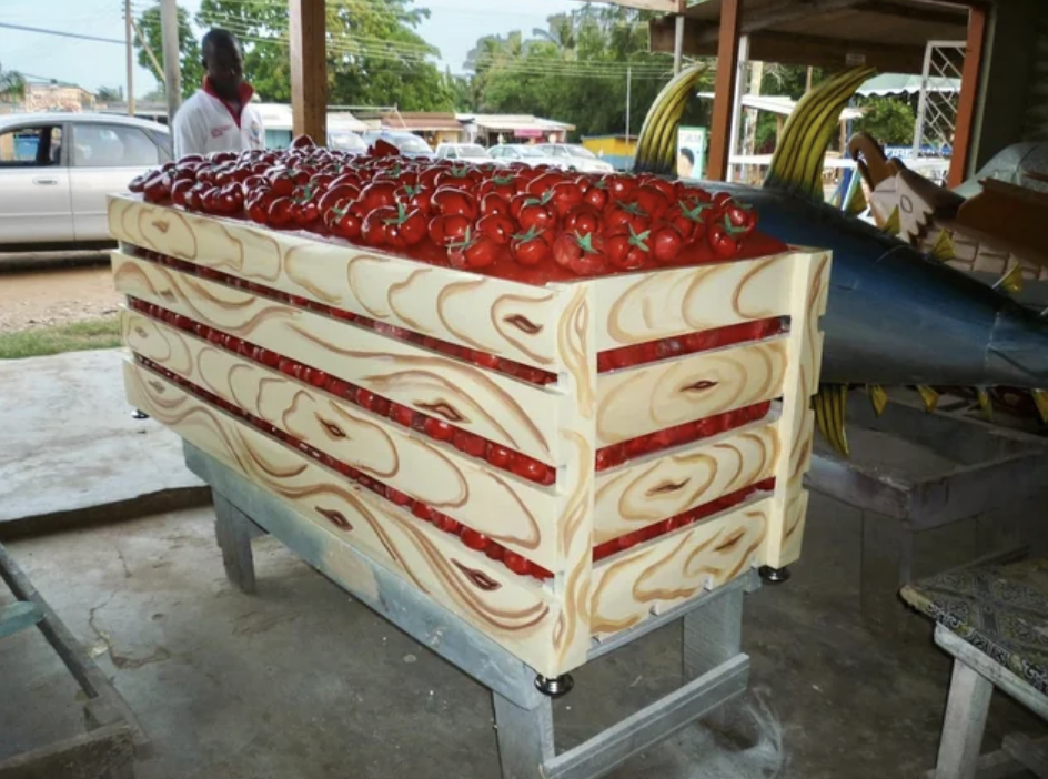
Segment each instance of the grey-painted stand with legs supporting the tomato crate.
[{"label": "grey-painted stand with legs supporting the tomato crate", "polygon": [[564,677],[540,682],[532,668],[491,638],[349,544],[340,548],[340,564],[329,566],[323,554],[330,549],[326,530],[303,520],[289,506],[190,444],[185,445],[185,462],[211,485],[216,535],[231,581],[253,589],[250,539],[262,528],[372,610],[491,689],[503,779],[594,779],[746,690],[749,658],[739,646],[743,594],[759,586],[755,574],[594,644],[590,659],[682,620],[685,684],[557,755],[551,695],[570,689]]}]

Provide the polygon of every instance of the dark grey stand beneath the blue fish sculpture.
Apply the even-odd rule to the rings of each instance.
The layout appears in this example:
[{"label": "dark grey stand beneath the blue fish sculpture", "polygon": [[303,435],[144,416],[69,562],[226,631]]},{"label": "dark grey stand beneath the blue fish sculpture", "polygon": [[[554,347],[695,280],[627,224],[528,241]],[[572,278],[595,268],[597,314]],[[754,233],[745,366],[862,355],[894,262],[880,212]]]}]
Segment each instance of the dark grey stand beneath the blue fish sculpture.
[{"label": "dark grey stand beneath the blue fish sculpture", "polygon": [[[853,442],[850,459],[817,452],[805,484],[861,512],[865,618],[887,629],[905,625],[906,610],[896,597],[899,587],[918,575],[937,573],[915,570],[916,540],[923,533],[966,520],[977,524],[975,554],[939,565],[940,570],[1028,554],[1039,517],[1017,515],[985,525],[978,517],[1016,506],[1048,487],[1048,442],[975,419],[928,414],[916,403],[897,399],[877,417],[864,392],[848,398],[847,422],[849,429],[891,436],[871,444],[885,446],[887,456],[864,451],[863,438]],[[925,462],[921,475],[911,476],[913,458],[921,453],[927,458],[929,452],[948,464],[929,468]]]}]

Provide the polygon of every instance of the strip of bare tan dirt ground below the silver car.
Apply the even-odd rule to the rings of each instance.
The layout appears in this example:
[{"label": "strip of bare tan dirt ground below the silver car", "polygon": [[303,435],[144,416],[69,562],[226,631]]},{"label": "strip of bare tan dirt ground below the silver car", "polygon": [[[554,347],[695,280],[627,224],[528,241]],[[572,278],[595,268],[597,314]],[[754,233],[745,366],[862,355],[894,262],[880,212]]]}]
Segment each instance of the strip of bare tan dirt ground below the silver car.
[{"label": "strip of bare tan dirt ground below the silver car", "polygon": [[0,333],[117,314],[120,295],[108,264],[0,274]]}]

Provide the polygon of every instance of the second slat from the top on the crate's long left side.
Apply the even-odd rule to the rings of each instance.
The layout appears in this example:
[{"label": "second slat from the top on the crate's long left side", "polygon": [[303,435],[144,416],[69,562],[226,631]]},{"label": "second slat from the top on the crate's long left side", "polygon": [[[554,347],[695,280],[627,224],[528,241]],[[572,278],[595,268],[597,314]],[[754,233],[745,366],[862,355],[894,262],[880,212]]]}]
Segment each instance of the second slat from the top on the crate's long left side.
[{"label": "second slat from the top on the crate's long left side", "polygon": [[369,330],[124,255],[117,289],[557,465],[558,395]]}]

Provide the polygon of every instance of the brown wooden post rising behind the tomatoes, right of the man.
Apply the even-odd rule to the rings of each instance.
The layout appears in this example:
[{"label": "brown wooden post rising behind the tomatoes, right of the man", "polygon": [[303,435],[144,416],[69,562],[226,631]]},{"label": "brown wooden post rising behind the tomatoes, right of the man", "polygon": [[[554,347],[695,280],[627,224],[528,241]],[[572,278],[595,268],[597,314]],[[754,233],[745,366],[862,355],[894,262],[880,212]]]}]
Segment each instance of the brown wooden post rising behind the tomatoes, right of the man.
[{"label": "brown wooden post rising behind the tomatoes, right of the man", "polygon": [[324,0],[290,0],[292,132],[328,143]]}]

